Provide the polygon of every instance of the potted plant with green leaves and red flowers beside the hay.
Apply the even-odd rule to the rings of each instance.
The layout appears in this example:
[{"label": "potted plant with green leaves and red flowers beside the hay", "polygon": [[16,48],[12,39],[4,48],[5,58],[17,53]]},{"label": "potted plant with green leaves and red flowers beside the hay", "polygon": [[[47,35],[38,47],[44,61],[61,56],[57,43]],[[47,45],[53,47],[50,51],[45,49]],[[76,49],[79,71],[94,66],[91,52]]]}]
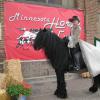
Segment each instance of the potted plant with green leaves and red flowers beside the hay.
[{"label": "potted plant with green leaves and red flowers beside the hay", "polygon": [[6,92],[11,96],[12,100],[26,100],[26,97],[31,94],[31,87],[32,86],[26,82],[11,84],[7,87]]}]

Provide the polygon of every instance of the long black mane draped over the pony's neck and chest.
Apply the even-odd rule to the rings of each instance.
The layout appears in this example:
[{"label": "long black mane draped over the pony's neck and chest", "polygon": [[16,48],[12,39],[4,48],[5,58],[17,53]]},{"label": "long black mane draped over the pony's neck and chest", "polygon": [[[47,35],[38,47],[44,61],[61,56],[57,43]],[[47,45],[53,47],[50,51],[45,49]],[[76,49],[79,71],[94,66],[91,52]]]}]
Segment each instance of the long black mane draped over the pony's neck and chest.
[{"label": "long black mane draped over the pony's neck and chest", "polygon": [[62,66],[62,68],[68,65],[69,54],[65,41],[48,30],[42,32],[44,37],[43,49],[51,64],[55,67]]}]

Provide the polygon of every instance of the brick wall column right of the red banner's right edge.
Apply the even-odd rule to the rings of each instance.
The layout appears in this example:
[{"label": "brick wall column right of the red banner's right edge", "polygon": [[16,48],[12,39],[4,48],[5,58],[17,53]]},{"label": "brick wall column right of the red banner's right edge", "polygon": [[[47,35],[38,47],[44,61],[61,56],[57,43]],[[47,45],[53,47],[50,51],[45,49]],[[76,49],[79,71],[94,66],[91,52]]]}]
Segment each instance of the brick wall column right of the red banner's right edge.
[{"label": "brick wall column right of the red banner's right edge", "polygon": [[97,34],[97,14],[100,13],[100,4],[97,0],[85,0],[85,11],[87,41],[93,44],[94,36],[100,38],[100,34]]}]

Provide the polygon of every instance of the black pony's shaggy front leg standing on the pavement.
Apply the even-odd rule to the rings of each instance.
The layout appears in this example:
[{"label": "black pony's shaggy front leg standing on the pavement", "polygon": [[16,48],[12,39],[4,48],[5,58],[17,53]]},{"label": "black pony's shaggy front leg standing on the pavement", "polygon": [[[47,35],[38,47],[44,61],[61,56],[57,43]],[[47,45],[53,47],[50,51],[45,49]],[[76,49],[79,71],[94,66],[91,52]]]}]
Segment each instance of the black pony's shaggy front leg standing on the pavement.
[{"label": "black pony's shaggy front leg standing on the pavement", "polygon": [[57,77],[57,89],[55,95],[59,98],[67,98],[66,83],[64,78],[64,72],[61,70],[55,70]]}]

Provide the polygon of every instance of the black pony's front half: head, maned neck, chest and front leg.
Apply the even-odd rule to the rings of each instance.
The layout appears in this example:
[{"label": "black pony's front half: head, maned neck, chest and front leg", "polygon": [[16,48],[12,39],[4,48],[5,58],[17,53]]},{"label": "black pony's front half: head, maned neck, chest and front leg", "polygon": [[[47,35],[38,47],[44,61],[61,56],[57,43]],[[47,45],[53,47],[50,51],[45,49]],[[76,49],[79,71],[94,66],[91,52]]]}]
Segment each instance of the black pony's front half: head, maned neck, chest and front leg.
[{"label": "black pony's front half: head, maned neck, chest and front leg", "polygon": [[[57,89],[54,94],[60,98],[67,97],[64,73],[70,69],[70,54],[66,44],[68,39],[61,39],[51,31],[43,29],[37,34],[33,45],[35,50],[44,49],[45,55],[50,60],[57,77]],[[93,89],[95,88],[91,87],[90,91]]]}]

